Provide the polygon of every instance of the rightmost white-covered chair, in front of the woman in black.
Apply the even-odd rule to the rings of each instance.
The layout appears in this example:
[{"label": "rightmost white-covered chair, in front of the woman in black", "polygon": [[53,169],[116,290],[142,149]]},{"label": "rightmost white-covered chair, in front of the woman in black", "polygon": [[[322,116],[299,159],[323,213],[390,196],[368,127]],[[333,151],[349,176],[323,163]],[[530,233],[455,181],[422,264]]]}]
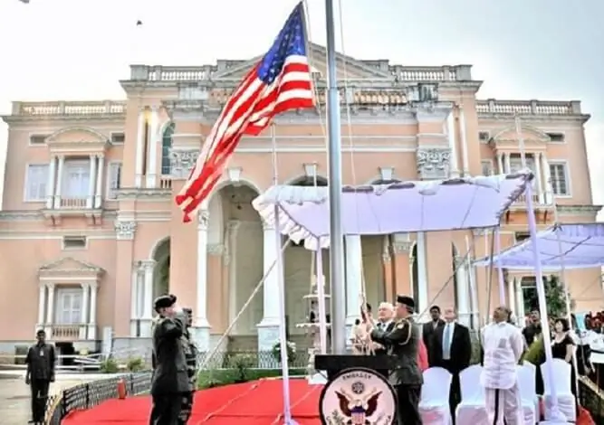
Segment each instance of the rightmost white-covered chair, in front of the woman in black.
[{"label": "rightmost white-covered chair, in front of the woman in black", "polygon": [[[549,417],[548,412],[551,409],[551,382],[547,373],[547,363],[541,365],[543,375],[543,390],[545,401],[545,416]],[[553,368],[553,379],[556,381],[556,395],[558,407],[566,420],[569,422],[577,421],[577,410],[575,405],[575,396],[570,391],[570,364],[562,359],[553,359],[551,362]]]}]

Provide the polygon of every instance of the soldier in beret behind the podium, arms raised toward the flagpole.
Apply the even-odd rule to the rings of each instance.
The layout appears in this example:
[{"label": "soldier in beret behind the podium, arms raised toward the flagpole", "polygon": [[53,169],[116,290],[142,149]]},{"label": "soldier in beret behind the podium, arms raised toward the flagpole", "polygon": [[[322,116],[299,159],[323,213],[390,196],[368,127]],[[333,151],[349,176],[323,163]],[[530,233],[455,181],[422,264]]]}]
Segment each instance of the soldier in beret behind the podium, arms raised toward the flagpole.
[{"label": "soldier in beret behind the podium, arms raised toward the flagpole", "polygon": [[395,366],[388,374],[388,382],[397,391],[399,425],[422,424],[418,405],[424,380],[417,365],[417,345],[421,333],[411,318],[414,308],[413,298],[398,296],[394,328],[389,331],[374,328],[371,331],[371,339],[384,345],[388,354],[394,357]]}]

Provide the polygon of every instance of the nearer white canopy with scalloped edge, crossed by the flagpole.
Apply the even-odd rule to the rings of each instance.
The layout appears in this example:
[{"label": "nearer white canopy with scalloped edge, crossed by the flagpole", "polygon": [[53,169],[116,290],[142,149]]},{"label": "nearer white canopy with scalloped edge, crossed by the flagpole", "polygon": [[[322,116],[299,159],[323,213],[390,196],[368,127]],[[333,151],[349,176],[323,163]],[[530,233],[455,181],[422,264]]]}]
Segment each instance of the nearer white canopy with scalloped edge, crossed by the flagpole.
[{"label": "nearer white canopy with scalloped edge, crossed by the flagpole", "polygon": [[[346,186],[342,193],[345,234],[379,235],[448,231],[499,225],[501,215],[532,180],[530,170],[450,180]],[[307,249],[330,244],[329,187],[275,185],[254,199],[264,222]]]}]

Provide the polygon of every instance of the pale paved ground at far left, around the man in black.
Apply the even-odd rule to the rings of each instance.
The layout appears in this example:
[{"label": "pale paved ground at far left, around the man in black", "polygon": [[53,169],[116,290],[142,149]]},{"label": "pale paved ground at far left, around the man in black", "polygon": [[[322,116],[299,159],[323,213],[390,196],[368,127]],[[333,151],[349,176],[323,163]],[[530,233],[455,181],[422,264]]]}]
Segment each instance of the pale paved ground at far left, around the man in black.
[{"label": "pale paved ground at far left, around the man in black", "polygon": [[[60,374],[51,384],[51,394],[82,382],[107,378],[106,374]],[[30,420],[30,393],[23,373],[0,372],[0,420],[2,425],[24,425]]]}]

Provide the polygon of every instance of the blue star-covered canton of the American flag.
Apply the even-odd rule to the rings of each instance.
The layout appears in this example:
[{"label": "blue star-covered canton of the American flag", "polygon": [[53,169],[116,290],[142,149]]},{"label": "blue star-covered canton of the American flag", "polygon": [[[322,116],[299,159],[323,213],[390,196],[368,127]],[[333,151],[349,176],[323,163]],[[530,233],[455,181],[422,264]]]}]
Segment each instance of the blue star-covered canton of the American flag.
[{"label": "blue star-covered canton of the American flag", "polygon": [[258,78],[263,80],[265,84],[272,84],[283,71],[285,59],[291,55],[306,56],[306,33],[302,3],[293,9],[283,29],[273,42],[273,47],[264,55],[258,67]]}]

